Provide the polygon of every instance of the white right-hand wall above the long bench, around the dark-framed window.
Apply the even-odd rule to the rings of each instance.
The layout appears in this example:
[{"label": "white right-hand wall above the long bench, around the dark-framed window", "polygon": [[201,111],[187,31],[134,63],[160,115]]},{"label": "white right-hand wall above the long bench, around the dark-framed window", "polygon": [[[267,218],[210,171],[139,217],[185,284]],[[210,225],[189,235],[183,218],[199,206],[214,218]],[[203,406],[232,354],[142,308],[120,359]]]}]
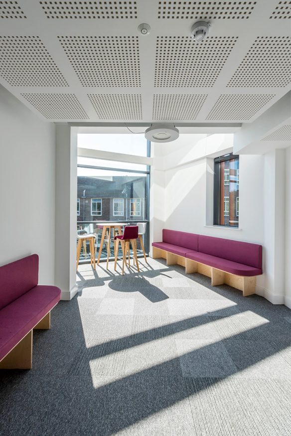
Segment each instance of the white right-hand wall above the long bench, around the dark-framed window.
[{"label": "white right-hand wall above the long bench, around the dark-framed window", "polygon": [[[154,232],[153,239],[161,240],[161,229],[167,228],[261,244],[264,274],[257,279],[257,293],[275,304],[288,304],[290,148],[240,155],[239,229],[231,229],[212,223],[213,158],[232,151],[232,145],[231,134],[181,135],[169,145],[154,144],[155,170],[160,168],[163,173],[164,221],[158,219],[161,216],[158,211],[159,231]],[[153,192],[162,184],[160,173],[156,186],[152,174]]]}]

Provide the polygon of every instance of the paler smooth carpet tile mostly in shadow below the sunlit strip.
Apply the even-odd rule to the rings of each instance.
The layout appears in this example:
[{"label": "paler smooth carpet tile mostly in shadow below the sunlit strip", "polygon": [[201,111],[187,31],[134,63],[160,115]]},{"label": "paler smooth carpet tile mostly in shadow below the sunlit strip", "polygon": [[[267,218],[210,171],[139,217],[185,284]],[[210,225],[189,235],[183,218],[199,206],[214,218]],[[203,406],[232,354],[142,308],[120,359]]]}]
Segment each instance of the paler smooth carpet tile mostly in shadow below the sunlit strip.
[{"label": "paler smooth carpet tile mostly in shadow below the sunlit strip", "polygon": [[175,342],[185,377],[225,377],[237,370],[221,342],[202,339]]}]

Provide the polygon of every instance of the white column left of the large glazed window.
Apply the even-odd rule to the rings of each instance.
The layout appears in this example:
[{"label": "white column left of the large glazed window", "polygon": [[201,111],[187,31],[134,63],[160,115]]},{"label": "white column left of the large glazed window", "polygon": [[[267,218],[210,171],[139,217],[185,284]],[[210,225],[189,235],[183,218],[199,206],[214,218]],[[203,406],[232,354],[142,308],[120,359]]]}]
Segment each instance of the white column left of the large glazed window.
[{"label": "white column left of the large glazed window", "polygon": [[76,285],[77,134],[56,125],[55,284],[70,300]]}]

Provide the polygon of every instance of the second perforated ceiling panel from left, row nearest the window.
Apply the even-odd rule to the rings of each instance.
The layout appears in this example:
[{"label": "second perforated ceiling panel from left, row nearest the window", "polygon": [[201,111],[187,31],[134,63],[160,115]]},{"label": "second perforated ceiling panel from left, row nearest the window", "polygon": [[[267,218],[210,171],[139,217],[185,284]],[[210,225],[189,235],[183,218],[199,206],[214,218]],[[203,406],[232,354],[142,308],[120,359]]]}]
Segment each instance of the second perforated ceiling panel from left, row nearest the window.
[{"label": "second perforated ceiling panel from left, row nearest the window", "polygon": [[140,94],[88,94],[100,120],[142,120]]}]

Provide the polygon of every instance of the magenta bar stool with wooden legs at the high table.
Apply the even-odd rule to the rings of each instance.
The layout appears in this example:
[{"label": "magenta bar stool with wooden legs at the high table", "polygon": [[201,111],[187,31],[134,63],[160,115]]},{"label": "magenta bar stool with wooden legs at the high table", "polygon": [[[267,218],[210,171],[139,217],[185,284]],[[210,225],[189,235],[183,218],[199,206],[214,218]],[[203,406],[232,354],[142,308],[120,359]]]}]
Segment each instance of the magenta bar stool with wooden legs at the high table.
[{"label": "magenta bar stool with wooden legs at the high table", "polygon": [[130,244],[132,244],[132,249],[134,252],[134,259],[137,263],[138,272],[140,272],[138,257],[137,257],[137,246],[136,241],[139,237],[139,227],[138,226],[126,226],[124,228],[124,234],[114,237],[114,270],[116,271],[117,255],[119,242],[121,242],[123,256],[122,256],[122,274],[124,275],[124,264],[127,265],[126,257],[129,254],[129,266],[130,266]]}]

